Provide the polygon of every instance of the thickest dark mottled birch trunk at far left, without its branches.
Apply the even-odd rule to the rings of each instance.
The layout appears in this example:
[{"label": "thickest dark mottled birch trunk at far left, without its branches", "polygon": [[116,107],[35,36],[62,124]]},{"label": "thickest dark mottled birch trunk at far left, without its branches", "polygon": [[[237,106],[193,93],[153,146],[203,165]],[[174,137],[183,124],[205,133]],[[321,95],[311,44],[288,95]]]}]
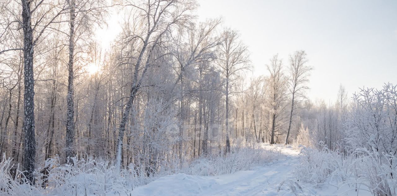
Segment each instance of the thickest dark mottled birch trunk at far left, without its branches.
[{"label": "thickest dark mottled birch trunk at far left, without its branches", "polygon": [[33,29],[31,26],[30,0],[21,0],[23,27],[23,69],[25,78],[23,130],[25,132],[23,168],[30,184],[35,184],[35,79],[33,76]]}]

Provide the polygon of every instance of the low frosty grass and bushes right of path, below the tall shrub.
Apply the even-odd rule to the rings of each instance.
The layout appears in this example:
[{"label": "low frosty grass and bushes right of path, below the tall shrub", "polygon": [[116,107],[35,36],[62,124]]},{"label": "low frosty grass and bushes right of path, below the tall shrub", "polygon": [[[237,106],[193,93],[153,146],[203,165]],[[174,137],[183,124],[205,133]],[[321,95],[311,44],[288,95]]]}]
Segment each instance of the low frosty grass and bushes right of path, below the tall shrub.
[{"label": "low frosty grass and bushes right of path, below the tall shrub", "polygon": [[320,146],[320,149],[301,147],[300,164],[294,171],[298,180],[316,186],[347,184],[351,189],[367,190],[374,196],[397,194],[394,155],[358,148],[349,156],[343,156],[338,151],[330,151],[323,143]]}]

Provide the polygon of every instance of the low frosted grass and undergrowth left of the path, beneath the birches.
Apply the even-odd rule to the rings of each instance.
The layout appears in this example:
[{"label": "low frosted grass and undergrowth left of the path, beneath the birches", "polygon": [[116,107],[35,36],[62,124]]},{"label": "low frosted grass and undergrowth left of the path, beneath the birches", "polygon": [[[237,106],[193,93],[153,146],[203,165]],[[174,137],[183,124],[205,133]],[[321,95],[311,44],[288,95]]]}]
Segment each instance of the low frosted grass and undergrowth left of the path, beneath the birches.
[{"label": "low frosted grass and undergrowth left of the path, beneath the birches", "polygon": [[[71,158],[73,164],[61,164],[59,157],[46,160],[48,175],[35,171],[35,185],[25,182],[23,171],[16,169],[15,179],[10,175],[11,160],[0,162],[0,196],[70,196],[123,194],[154,180],[144,170],[129,169],[115,171],[113,163],[93,158]],[[131,169],[130,169],[131,168]]]}]

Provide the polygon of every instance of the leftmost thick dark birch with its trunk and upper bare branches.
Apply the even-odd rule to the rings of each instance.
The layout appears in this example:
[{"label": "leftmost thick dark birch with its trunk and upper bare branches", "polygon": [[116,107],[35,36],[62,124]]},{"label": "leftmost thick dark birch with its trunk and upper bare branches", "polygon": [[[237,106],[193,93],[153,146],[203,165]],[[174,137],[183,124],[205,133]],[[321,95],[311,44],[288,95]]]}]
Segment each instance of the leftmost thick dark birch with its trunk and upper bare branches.
[{"label": "leftmost thick dark birch with its trunk and upper bare branches", "polygon": [[[23,51],[23,70],[24,70],[24,159],[23,168],[25,169],[25,176],[27,180],[34,184],[33,171],[35,170],[35,155],[36,155],[36,140],[35,140],[35,78],[33,74],[34,51],[35,45],[42,41],[42,35],[48,34],[49,26],[56,21],[59,16],[64,14],[67,10],[65,4],[47,4],[44,0],[33,2],[31,0],[21,0],[19,4],[21,7],[17,8],[15,4],[10,3],[6,6],[10,8],[4,9],[10,14],[12,18],[6,21],[6,28],[1,34],[8,35],[10,32],[22,29],[23,47],[19,48],[15,45],[10,45],[8,49],[0,51],[0,54],[10,52],[13,50]],[[20,10],[22,19],[16,16],[15,10]],[[12,24],[17,25],[17,29],[13,29]],[[43,36],[45,37],[45,36]]]}]

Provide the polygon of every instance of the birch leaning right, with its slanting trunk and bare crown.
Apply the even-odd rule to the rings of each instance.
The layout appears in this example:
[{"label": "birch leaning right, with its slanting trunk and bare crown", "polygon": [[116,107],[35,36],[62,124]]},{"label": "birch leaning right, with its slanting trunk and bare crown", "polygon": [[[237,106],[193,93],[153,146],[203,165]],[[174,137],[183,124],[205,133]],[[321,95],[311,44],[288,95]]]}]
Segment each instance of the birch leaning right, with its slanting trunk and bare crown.
[{"label": "birch leaning right, with its slanting trunk and bare crown", "polygon": [[154,58],[152,56],[153,51],[160,47],[162,43],[161,39],[172,27],[186,23],[190,18],[187,12],[195,7],[195,5],[189,1],[177,0],[149,0],[147,2],[142,2],[141,4],[127,4],[127,6],[132,6],[133,8],[136,8],[137,12],[141,13],[137,20],[141,21],[140,25],[143,25],[145,29],[140,33],[132,31],[127,35],[127,39],[130,39],[129,42],[138,41],[140,43],[140,48],[138,49],[136,61],[133,62],[134,72],[131,89],[119,124],[116,153],[117,169],[120,169],[121,166],[121,147],[125,125],[127,124],[135,96],[141,88],[142,80],[154,60],[152,59]]}]

